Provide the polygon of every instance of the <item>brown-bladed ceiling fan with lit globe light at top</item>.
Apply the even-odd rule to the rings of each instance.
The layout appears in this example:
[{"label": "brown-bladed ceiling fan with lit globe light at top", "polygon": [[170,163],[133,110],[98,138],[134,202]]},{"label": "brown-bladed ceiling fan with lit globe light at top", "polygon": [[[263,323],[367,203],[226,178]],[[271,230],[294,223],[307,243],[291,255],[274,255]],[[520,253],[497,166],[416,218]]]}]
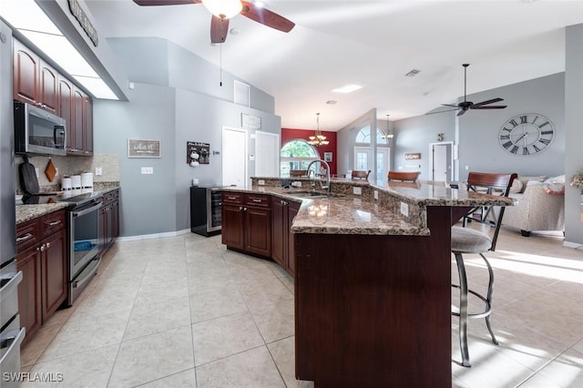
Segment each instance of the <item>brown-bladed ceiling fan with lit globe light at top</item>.
[{"label": "brown-bladed ceiling fan with lit globe light at top", "polygon": [[290,32],[293,22],[269,9],[244,0],[134,0],[137,5],[186,5],[202,3],[212,14],[210,20],[210,42],[224,43],[229,32],[229,19],[243,15],[263,26]]}]

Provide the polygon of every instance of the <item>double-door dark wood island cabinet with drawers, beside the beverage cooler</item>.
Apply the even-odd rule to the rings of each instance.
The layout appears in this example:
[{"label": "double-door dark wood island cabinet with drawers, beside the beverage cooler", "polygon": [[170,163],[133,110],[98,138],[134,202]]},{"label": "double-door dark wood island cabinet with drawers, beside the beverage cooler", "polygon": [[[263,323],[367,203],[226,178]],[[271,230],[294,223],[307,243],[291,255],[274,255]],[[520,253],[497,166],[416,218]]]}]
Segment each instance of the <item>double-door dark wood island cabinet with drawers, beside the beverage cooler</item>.
[{"label": "double-door dark wood island cabinet with drawers, beside the beverage cooler", "polygon": [[271,258],[271,196],[223,192],[221,218],[223,244]]}]

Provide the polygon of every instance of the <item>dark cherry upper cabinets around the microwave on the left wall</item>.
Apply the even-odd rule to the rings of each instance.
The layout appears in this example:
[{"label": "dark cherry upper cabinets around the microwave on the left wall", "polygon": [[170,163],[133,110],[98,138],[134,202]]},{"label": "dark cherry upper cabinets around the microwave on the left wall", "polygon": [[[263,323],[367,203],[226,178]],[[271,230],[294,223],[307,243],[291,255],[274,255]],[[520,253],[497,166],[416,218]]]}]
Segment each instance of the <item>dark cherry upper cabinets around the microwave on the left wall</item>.
[{"label": "dark cherry upper cabinets around the microwave on the left wall", "polygon": [[14,40],[14,98],[66,120],[66,154],[93,155],[93,101],[30,48]]}]

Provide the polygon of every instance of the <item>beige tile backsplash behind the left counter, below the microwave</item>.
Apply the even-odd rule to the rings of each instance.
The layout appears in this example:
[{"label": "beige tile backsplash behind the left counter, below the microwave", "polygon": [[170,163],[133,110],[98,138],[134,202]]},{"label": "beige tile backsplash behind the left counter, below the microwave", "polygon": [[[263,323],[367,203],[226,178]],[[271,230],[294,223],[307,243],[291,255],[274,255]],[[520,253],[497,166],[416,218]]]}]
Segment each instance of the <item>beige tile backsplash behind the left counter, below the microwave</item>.
[{"label": "beige tile backsplash behind the left counter, below the microwave", "polygon": [[[57,168],[57,175],[53,181],[49,181],[45,175],[46,164],[49,157],[43,155],[29,156],[28,161],[32,163],[35,168],[38,168],[38,185],[41,191],[46,187],[55,187],[60,189],[61,178],[80,174],[82,172],[93,172],[94,183],[98,182],[119,182],[119,155],[118,154],[94,154],[92,157],[50,157],[53,164]],[[15,156],[15,189],[16,193],[22,191],[20,186],[19,166],[24,162],[24,159]],[[95,169],[101,168],[102,175],[95,175]]]}]

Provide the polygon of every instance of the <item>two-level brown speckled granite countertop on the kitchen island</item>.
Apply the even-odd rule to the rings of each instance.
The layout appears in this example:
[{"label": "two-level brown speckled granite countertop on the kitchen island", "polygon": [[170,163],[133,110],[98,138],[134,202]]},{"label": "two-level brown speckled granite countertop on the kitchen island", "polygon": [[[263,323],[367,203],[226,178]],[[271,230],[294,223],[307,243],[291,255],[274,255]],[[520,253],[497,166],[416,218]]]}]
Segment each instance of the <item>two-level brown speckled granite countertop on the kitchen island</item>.
[{"label": "two-level brown speckled granite countertop on the kitchen island", "polygon": [[[514,199],[496,195],[478,194],[427,183],[374,182],[353,179],[332,179],[332,194],[327,198],[292,197],[294,192],[312,190],[311,187],[284,189],[280,178],[252,178],[251,189],[223,188],[225,191],[243,191],[276,195],[302,202],[292,223],[294,233],[370,234],[426,236],[427,206],[511,206]],[[311,179],[290,179],[310,181]],[[263,181],[263,185],[256,182]],[[302,182],[303,183],[303,182]],[[318,188],[318,185],[316,185]],[[353,188],[362,189],[362,195],[353,195]],[[317,190],[322,191],[322,190]],[[375,199],[375,197],[378,199]],[[400,209],[408,205],[408,215]]]}]

